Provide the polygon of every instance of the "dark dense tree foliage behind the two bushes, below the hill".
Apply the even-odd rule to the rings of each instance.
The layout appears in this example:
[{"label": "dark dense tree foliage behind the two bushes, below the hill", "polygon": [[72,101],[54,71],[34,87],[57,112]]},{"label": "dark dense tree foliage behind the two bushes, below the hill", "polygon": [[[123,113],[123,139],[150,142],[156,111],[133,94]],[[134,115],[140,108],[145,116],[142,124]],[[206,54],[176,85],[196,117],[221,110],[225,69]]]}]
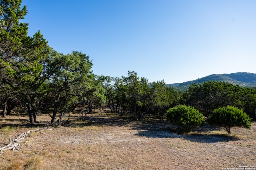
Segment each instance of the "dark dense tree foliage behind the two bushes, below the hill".
[{"label": "dark dense tree foliage behind the two bushes, below the hill", "polygon": [[243,88],[228,82],[208,81],[192,84],[184,94],[185,103],[195,107],[208,117],[214,109],[236,106],[255,118],[256,90]]}]

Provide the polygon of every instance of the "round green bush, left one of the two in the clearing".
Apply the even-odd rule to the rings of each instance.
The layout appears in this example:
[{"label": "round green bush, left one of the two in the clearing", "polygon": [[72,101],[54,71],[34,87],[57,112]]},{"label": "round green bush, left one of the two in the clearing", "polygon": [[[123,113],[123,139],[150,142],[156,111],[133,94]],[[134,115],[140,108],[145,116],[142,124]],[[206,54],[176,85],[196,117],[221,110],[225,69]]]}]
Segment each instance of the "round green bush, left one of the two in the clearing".
[{"label": "round green bush, left one of the two in the clearing", "polygon": [[166,113],[167,121],[177,126],[178,133],[193,131],[196,127],[204,125],[204,117],[194,107],[179,105],[170,108]]}]

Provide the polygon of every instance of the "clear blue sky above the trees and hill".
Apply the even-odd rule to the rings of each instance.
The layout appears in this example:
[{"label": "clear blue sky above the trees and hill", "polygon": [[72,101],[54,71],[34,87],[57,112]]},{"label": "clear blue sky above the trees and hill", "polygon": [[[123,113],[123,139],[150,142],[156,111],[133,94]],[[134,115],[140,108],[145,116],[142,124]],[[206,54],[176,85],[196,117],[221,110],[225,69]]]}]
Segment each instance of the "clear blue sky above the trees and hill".
[{"label": "clear blue sky above the trees and hill", "polygon": [[23,0],[29,35],[82,51],[97,75],[167,84],[256,73],[256,0]]}]

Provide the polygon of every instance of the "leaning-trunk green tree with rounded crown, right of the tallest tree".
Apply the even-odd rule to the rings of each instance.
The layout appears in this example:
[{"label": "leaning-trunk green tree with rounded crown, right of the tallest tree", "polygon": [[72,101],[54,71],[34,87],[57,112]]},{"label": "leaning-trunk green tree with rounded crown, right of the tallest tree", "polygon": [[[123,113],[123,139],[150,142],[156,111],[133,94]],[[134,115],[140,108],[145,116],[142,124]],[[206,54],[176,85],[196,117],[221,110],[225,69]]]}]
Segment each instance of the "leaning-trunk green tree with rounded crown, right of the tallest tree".
[{"label": "leaning-trunk green tree with rounded crown, right of the tallest tree", "polygon": [[[78,51],[71,54],[52,55],[48,61],[48,74],[52,98],[54,98],[51,123],[55,123],[56,115],[60,116],[72,109],[74,101],[80,95],[81,84],[92,78],[92,62],[89,56]],[[61,118],[61,117],[60,117]],[[60,119],[59,119],[60,120]]]}]

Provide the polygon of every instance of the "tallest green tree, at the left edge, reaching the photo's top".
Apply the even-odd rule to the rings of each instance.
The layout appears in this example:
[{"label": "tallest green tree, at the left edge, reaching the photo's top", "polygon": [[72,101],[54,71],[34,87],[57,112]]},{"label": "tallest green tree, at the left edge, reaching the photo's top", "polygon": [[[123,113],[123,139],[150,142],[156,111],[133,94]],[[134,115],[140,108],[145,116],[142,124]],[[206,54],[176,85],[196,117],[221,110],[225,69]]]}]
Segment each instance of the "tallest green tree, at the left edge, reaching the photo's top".
[{"label": "tallest green tree, at the left edge, reaching the photo's top", "polygon": [[0,83],[1,88],[8,88],[4,100],[14,94],[22,96],[20,101],[28,106],[30,123],[35,123],[30,106],[34,105],[34,92],[40,86],[37,77],[49,47],[40,31],[33,37],[27,35],[28,23],[19,22],[27,14],[26,6],[20,9],[21,3],[22,0],[0,1]]}]

